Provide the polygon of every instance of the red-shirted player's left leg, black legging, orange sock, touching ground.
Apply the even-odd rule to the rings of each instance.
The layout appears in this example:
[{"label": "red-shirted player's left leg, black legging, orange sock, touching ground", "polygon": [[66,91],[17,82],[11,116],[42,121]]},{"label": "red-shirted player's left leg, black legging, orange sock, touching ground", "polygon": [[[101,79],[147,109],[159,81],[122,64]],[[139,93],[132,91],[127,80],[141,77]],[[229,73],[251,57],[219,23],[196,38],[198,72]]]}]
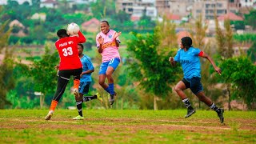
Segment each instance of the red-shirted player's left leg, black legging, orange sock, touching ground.
[{"label": "red-shirted player's left leg, black legging, orange sock, touching ground", "polygon": [[54,94],[54,98],[51,101],[50,104],[50,111],[49,113],[46,115],[46,120],[50,120],[50,118],[53,116],[54,114],[54,110],[56,108],[56,106],[58,105],[58,101],[60,100],[60,98],[62,98],[62,94],[64,93],[65,89],[66,89],[66,85],[70,80],[70,73],[67,70],[59,70],[58,72],[58,84],[57,84],[57,91]]}]

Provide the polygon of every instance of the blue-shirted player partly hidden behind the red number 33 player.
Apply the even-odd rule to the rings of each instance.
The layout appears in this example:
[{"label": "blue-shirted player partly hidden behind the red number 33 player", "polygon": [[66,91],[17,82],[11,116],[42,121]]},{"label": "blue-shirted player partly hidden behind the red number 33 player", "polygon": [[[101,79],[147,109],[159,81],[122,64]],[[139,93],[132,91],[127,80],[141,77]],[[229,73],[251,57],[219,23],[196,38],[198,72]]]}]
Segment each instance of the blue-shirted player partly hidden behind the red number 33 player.
[{"label": "blue-shirted player partly hidden behind the red number 33 player", "polygon": [[84,119],[82,116],[82,102],[88,102],[90,100],[98,98],[100,102],[103,102],[100,94],[96,93],[94,96],[83,96],[84,94],[88,94],[90,83],[91,83],[91,73],[94,72],[94,66],[90,60],[90,58],[86,54],[82,54],[83,45],[81,43],[78,44],[78,54],[80,61],[82,62],[82,74],[80,74],[80,84],[79,84],[79,95],[75,95],[75,100],[78,108],[78,116],[73,118],[74,120],[82,120]]}]

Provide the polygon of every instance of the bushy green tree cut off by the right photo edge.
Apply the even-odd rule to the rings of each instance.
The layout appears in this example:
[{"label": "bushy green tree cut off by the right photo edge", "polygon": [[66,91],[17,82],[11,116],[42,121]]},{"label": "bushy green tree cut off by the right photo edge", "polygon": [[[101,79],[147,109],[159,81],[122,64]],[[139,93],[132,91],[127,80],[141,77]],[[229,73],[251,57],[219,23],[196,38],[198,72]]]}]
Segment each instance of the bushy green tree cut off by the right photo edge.
[{"label": "bushy green tree cut off by the right photo edge", "polygon": [[222,62],[222,78],[231,83],[231,99],[242,98],[250,110],[255,110],[256,66],[246,56],[228,58]]}]

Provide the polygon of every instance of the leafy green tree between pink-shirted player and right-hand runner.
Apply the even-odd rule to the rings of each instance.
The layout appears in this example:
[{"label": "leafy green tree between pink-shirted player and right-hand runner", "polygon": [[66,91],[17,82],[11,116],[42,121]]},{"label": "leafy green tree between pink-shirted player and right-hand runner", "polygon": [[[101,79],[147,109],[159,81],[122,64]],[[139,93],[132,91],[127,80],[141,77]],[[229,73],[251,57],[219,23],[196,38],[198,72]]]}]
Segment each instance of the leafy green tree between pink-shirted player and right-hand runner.
[{"label": "leafy green tree between pink-shirted player and right-hand runner", "polygon": [[168,54],[158,53],[158,30],[146,35],[133,33],[133,38],[127,46],[130,58],[134,58],[130,63],[130,76],[139,82],[147,94],[154,94],[154,110],[158,110],[157,99],[166,98],[170,94],[170,84],[180,72],[168,62],[173,51]]}]

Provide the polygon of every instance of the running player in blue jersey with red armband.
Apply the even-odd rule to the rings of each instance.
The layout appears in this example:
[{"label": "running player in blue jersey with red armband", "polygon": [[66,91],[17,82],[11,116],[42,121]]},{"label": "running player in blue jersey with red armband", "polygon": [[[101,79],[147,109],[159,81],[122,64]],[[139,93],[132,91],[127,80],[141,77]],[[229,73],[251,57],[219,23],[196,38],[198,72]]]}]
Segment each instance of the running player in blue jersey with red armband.
[{"label": "running player in blue jersey with red armband", "polygon": [[192,46],[192,39],[190,37],[184,37],[180,42],[180,49],[178,50],[175,57],[169,58],[170,64],[172,66],[175,66],[177,62],[182,65],[184,74],[182,81],[178,82],[178,84],[175,86],[175,91],[177,92],[178,96],[182,98],[182,102],[184,102],[187,107],[187,114],[185,118],[188,118],[195,113],[194,108],[190,105],[189,99],[183,92],[183,90],[190,88],[190,90],[199,98],[200,101],[206,103],[207,106],[210,106],[211,109],[217,112],[218,118],[222,123],[224,122],[224,110],[218,108],[214,102],[212,102],[210,98],[207,98],[202,91],[201,64],[199,57],[208,59],[214,66],[214,70],[218,74],[222,73],[222,70],[215,65],[213,59],[210,58],[209,55],[204,53],[202,50],[199,50],[198,48],[194,48]]}]

